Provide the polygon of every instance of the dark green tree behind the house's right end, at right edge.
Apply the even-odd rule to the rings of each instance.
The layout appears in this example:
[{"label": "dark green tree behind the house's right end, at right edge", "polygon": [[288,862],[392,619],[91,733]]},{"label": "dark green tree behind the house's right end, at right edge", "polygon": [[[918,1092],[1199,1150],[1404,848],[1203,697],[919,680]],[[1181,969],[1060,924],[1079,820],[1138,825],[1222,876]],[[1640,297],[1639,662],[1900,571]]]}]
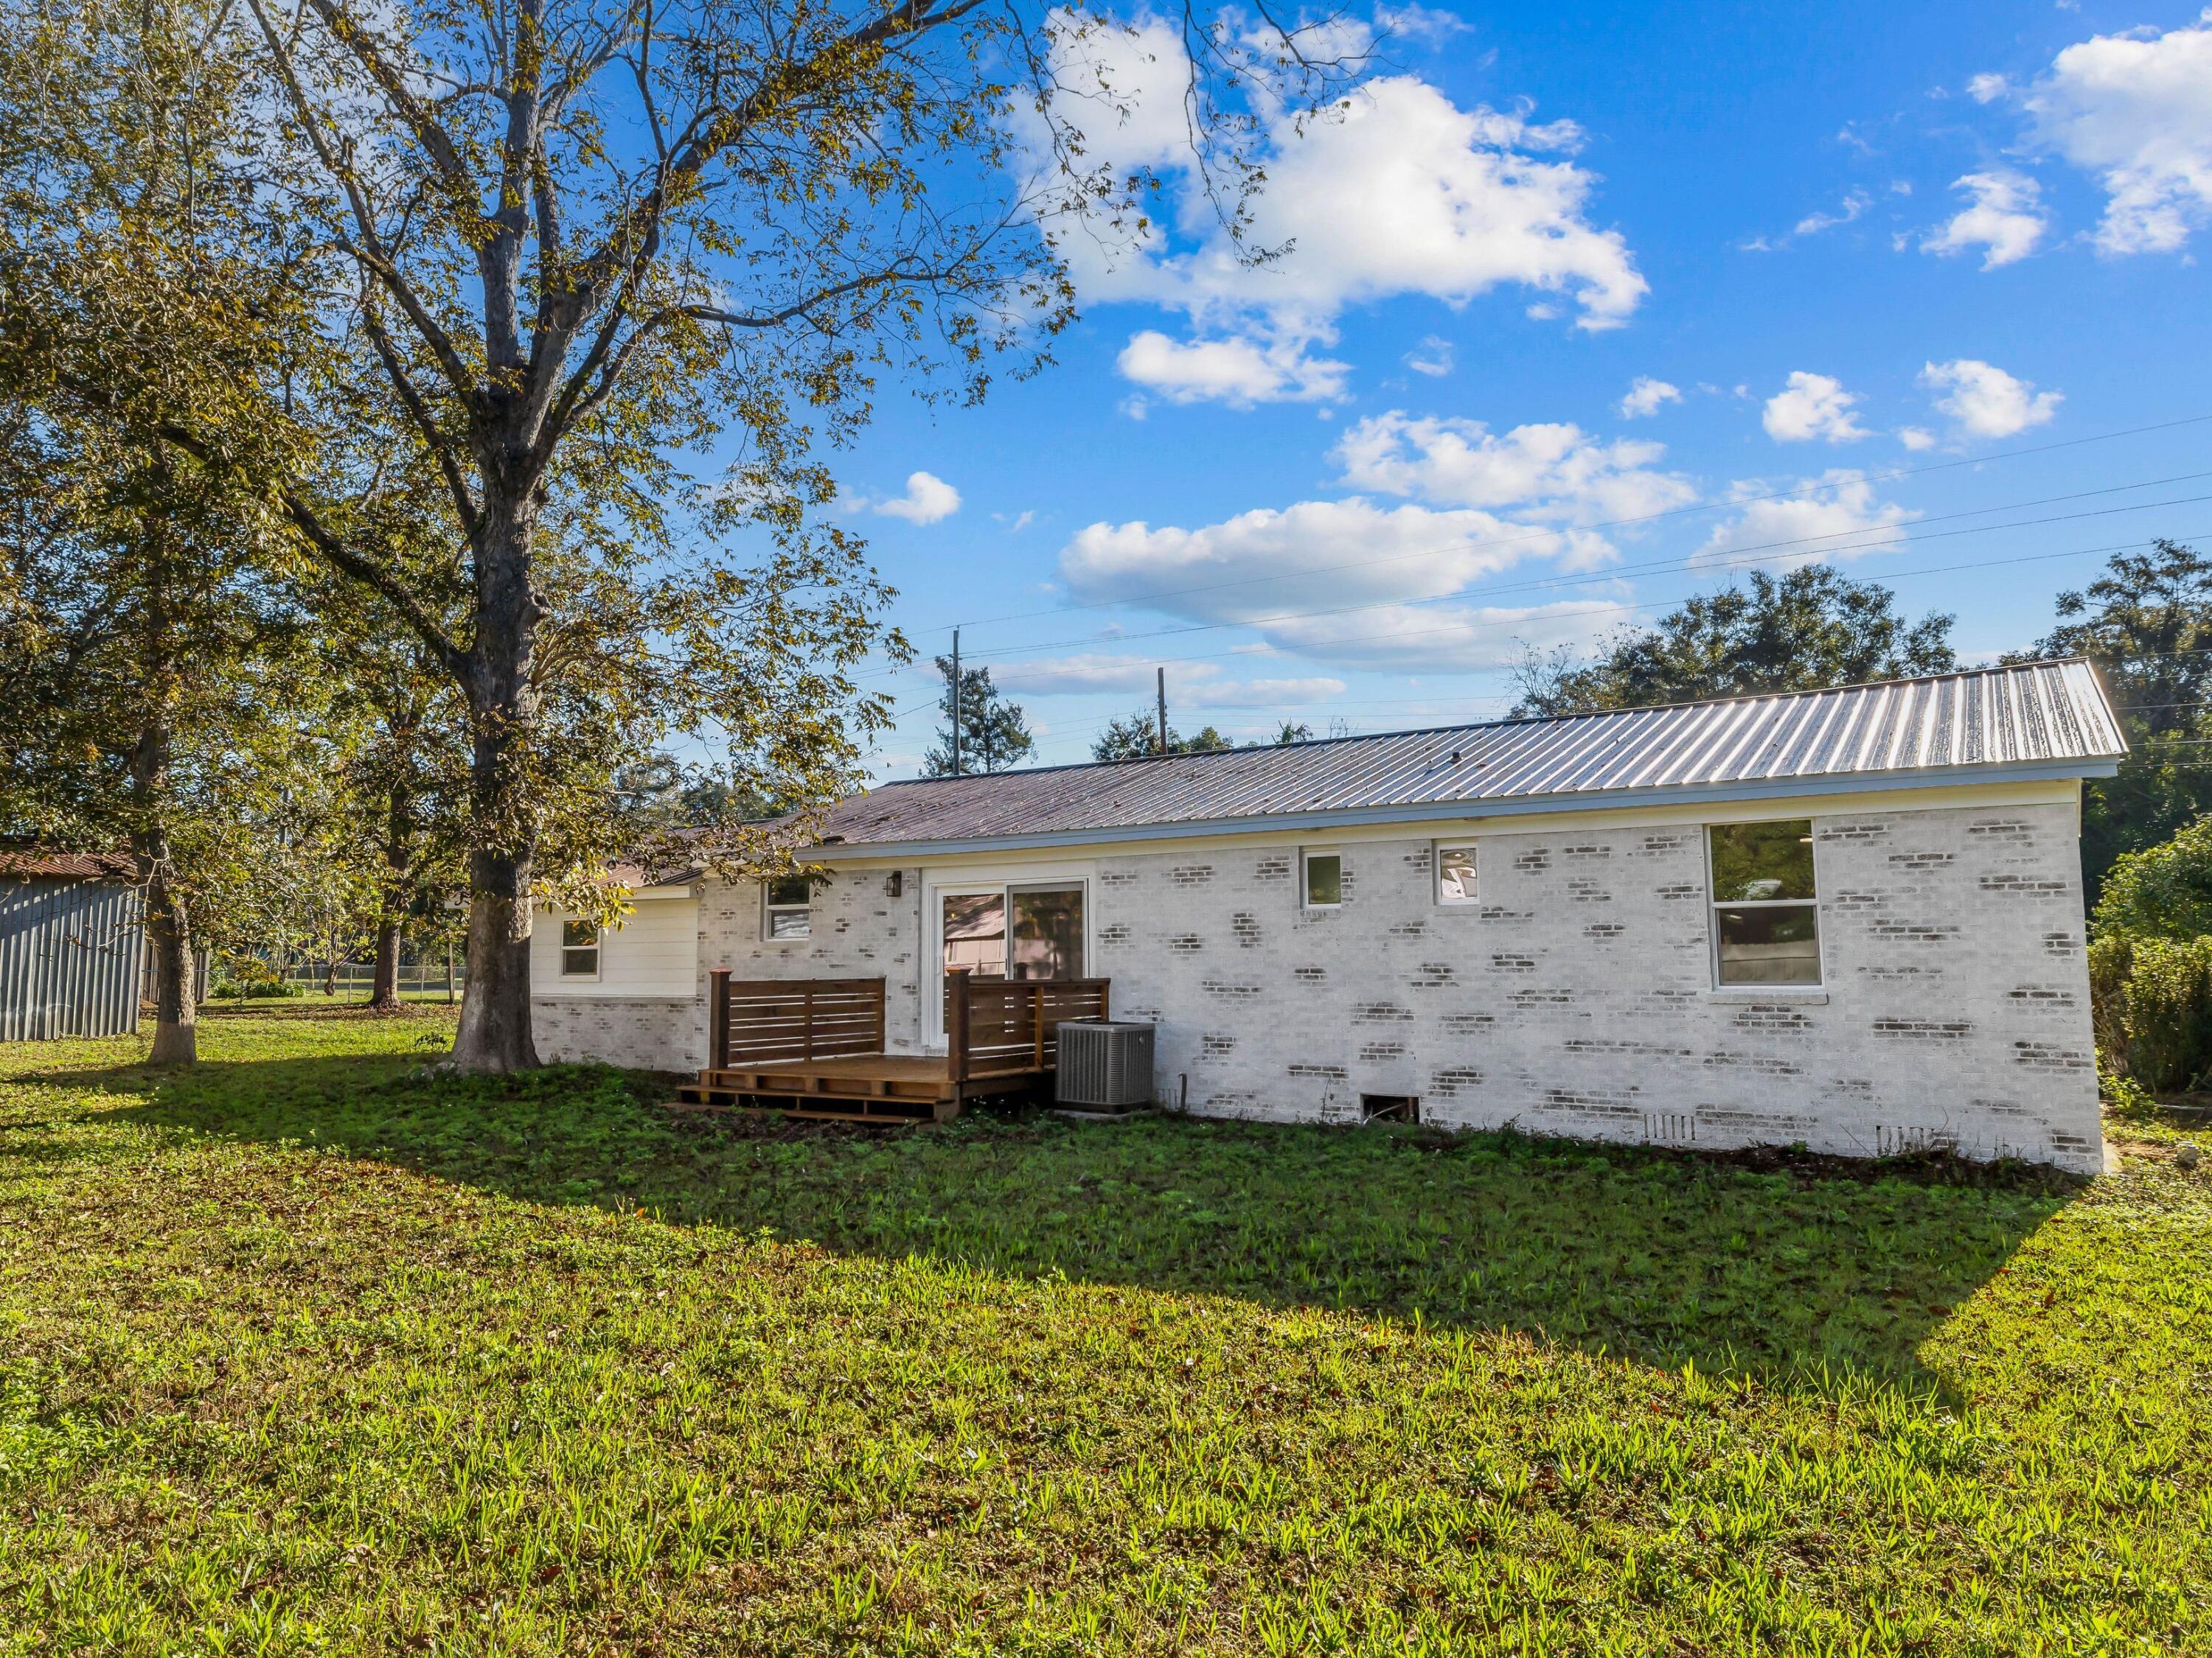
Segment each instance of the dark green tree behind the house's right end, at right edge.
[{"label": "dark green tree behind the house's right end, at right edge", "polygon": [[2212,811],[2212,559],[2179,542],[2117,553],[2057,599],[2059,623],[2017,657],[2088,657],[2119,710],[2128,756],[2084,785],[2081,869],[2090,895],[2130,851]]}]

